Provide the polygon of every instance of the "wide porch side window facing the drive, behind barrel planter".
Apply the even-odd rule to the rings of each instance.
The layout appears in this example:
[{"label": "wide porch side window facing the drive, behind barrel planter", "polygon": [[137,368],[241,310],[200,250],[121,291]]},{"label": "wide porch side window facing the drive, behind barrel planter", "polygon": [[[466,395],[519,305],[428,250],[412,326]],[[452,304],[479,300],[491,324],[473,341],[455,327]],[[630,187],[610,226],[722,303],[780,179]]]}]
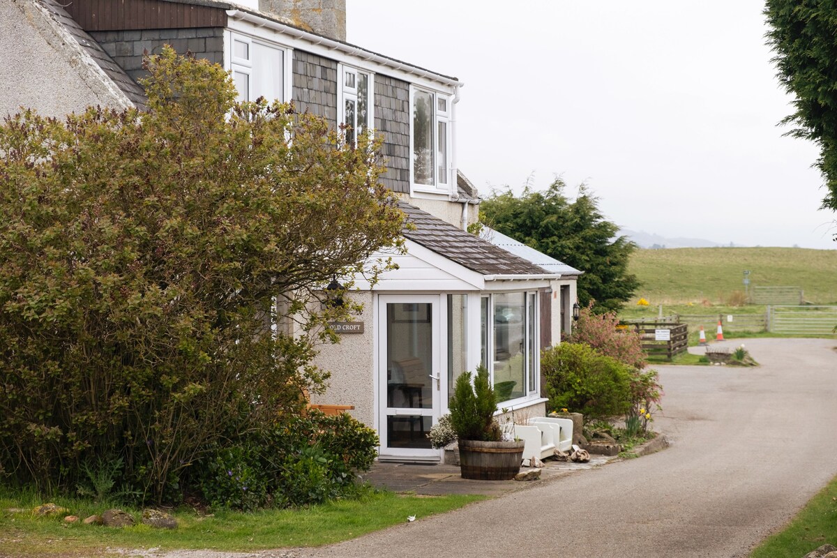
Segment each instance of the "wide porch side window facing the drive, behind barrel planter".
[{"label": "wide porch side window facing the drive, behind barrel planter", "polygon": [[480,328],[481,361],[490,372],[497,401],[537,392],[537,293],[483,297]]}]

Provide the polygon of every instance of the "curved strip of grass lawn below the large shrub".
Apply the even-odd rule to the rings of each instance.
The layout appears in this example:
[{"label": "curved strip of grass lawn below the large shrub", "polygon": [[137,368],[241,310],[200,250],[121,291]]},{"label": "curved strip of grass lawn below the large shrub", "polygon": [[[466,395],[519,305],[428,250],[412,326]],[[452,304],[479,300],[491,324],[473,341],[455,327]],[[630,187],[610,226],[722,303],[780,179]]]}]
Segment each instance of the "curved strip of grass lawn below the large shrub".
[{"label": "curved strip of grass lawn below the large shrub", "polygon": [[[107,549],[151,548],[252,551],[328,545],[407,521],[458,509],[484,496],[419,497],[371,489],[358,499],[345,499],[306,509],[266,510],[254,514],[218,512],[199,516],[191,509],[174,513],[177,530],[152,530],[146,525],[126,529],[64,523],[64,515],[36,519],[31,509],[43,500],[0,494],[0,556],[64,558],[116,555]],[[53,499],[84,519],[110,506],[80,499]],[[23,509],[23,511],[10,511]],[[138,510],[126,509],[140,516]]]}]

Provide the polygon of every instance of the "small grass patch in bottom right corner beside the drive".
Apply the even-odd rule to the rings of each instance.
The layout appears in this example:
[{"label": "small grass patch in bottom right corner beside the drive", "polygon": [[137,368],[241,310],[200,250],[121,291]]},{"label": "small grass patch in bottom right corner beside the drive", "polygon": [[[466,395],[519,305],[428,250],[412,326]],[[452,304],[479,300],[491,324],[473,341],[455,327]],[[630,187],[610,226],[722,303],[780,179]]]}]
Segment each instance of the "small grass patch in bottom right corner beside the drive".
[{"label": "small grass patch in bottom right corner beside the drive", "polygon": [[837,477],[781,532],[758,545],[751,558],[800,558],[822,545],[837,546]]}]

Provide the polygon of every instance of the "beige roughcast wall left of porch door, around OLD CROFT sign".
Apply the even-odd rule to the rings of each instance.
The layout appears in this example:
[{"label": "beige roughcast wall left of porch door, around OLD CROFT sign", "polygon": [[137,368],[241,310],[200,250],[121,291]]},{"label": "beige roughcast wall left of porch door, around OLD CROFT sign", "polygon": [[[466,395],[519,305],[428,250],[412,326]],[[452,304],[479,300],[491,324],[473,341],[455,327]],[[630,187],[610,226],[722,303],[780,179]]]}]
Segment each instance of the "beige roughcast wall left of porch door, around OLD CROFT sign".
[{"label": "beige roughcast wall left of porch door, around OLD CROFT sign", "polygon": [[337,345],[321,347],[317,366],[331,371],[326,393],[311,397],[312,403],[354,405],[352,417],[374,427],[374,381],[372,369],[375,340],[372,293],[355,293],[352,299],[362,303],[363,312],[353,321],[363,322],[363,333],[341,335]]}]

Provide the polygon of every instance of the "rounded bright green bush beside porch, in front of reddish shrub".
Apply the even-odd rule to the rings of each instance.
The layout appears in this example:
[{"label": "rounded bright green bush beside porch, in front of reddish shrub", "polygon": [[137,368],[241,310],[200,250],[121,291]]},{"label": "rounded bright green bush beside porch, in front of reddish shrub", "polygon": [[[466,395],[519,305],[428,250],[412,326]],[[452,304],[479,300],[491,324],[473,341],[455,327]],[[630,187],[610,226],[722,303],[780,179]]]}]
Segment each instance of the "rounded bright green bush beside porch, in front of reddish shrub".
[{"label": "rounded bright green bush beside porch, in front of reddish shrub", "polygon": [[553,410],[581,412],[585,421],[629,412],[631,368],[587,345],[561,343],[543,351],[541,371]]}]

